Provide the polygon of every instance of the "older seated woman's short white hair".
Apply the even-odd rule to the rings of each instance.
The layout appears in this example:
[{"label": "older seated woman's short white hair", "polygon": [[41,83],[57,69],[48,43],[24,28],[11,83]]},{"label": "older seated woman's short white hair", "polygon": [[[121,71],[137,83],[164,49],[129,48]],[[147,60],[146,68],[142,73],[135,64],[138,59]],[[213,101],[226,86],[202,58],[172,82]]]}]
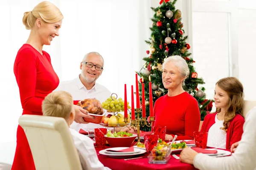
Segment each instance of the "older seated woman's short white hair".
[{"label": "older seated woman's short white hair", "polygon": [[189,66],[186,63],[186,61],[184,60],[184,58],[182,58],[179,55],[174,55],[174,56],[169,56],[168,58],[166,58],[163,62],[163,68],[165,67],[166,63],[169,62],[174,62],[175,66],[178,67],[179,71],[180,71],[180,75],[181,77],[185,77],[185,79],[182,81],[182,86],[185,86],[185,80],[186,78],[189,77]]}]

